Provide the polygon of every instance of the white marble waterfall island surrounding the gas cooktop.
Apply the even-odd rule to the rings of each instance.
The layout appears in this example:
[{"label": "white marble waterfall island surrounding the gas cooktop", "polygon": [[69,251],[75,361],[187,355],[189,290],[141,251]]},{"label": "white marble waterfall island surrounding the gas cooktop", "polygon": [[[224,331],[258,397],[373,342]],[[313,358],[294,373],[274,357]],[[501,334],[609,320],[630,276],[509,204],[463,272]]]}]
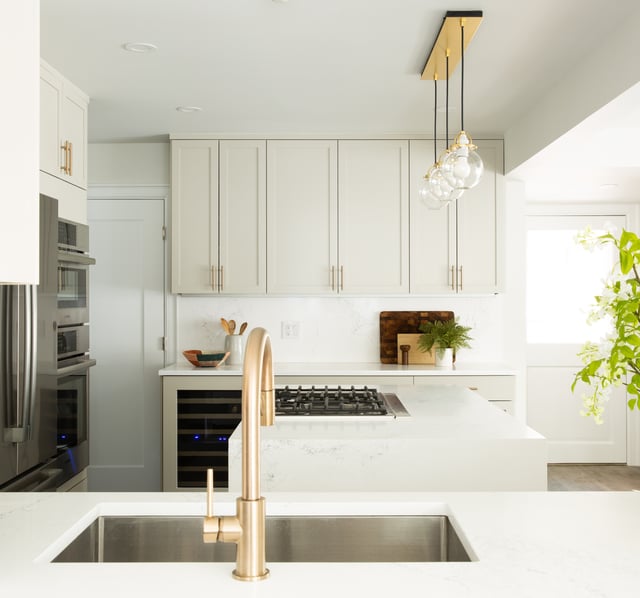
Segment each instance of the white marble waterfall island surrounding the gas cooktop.
[{"label": "white marble waterfall island surrounding the gas cooktop", "polygon": [[[458,386],[381,387],[409,412],[276,416],[261,428],[269,491],[546,490],[540,434]],[[241,487],[242,430],[229,439],[229,489]]]}]

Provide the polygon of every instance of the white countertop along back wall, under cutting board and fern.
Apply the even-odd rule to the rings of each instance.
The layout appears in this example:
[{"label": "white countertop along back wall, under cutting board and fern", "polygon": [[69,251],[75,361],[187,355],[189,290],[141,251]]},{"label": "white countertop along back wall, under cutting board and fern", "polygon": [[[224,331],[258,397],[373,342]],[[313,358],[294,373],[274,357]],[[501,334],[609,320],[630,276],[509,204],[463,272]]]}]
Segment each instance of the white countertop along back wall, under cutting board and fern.
[{"label": "white countertop along back wall, under cutting board and fern", "polygon": [[[456,363],[453,369],[433,365],[387,363],[274,363],[276,376],[514,376],[516,371],[497,363]],[[185,359],[159,371],[160,376],[242,376],[242,366],[198,368]]]}]

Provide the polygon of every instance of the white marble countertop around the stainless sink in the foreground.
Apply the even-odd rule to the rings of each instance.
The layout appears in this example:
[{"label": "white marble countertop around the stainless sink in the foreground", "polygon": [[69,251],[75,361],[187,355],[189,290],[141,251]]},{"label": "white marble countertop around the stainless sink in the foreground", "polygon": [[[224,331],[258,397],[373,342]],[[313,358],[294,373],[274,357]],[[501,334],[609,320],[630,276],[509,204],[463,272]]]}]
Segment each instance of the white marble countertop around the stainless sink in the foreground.
[{"label": "white marble countertop around the stainless sink in the foreground", "polygon": [[[232,579],[232,563],[53,564],[99,514],[202,515],[204,494],[0,493],[0,595],[92,598],[439,596],[626,598],[640,584],[640,492],[266,494],[267,513],[446,514],[470,563],[268,563],[269,579]],[[219,514],[235,496],[217,498]]]}]

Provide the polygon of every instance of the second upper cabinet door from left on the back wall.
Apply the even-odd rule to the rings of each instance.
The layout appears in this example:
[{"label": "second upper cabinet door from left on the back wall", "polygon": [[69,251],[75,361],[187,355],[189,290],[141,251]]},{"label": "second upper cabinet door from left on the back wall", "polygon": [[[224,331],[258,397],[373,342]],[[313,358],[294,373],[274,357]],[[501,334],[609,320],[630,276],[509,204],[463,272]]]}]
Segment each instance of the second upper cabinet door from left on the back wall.
[{"label": "second upper cabinet door from left on the back wall", "polygon": [[221,293],[266,289],[266,143],[220,141],[219,278]]}]

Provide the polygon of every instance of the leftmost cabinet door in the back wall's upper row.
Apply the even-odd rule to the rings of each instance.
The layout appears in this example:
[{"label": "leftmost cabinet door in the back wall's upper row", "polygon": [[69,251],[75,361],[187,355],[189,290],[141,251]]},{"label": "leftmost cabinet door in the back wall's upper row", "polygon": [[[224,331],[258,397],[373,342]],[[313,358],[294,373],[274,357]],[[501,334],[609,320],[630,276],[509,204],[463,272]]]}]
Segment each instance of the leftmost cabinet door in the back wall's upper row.
[{"label": "leftmost cabinet door in the back wall's upper row", "polygon": [[171,291],[217,292],[217,140],[171,142],[171,234]]}]

